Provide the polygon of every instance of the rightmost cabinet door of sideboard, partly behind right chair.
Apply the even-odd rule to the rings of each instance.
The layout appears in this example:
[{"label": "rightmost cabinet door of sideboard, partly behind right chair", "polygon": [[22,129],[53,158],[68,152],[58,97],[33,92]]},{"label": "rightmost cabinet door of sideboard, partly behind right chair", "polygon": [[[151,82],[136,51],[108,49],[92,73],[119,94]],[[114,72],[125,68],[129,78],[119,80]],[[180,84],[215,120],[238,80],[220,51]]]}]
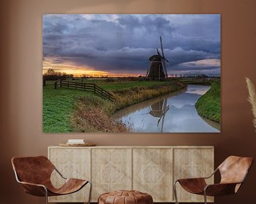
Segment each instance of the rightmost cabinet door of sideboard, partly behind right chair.
[{"label": "rightmost cabinet door of sideboard, partly behind right chair", "polygon": [[[213,149],[186,148],[174,149],[174,181],[177,179],[196,178],[210,176],[213,173]],[[214,178],[208,179],[213,183]],[[203,196],[188,193],[179,183],[177,196],[179,202],[203,202]],[[208,197],[213,202],[213,197]]]}]

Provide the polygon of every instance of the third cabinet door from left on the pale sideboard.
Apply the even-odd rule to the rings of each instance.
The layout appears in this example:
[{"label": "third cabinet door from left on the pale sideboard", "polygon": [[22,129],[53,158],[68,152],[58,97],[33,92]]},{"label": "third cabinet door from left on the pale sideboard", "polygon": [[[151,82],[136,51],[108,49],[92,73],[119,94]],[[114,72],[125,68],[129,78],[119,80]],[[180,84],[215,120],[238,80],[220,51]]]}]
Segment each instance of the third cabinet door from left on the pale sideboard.
[{"label": "third cabinet door from left on the pale sideboard", "polygon": [[133,188],[151,194],[154,202],[172,200],[171,149],[133,149]]}]

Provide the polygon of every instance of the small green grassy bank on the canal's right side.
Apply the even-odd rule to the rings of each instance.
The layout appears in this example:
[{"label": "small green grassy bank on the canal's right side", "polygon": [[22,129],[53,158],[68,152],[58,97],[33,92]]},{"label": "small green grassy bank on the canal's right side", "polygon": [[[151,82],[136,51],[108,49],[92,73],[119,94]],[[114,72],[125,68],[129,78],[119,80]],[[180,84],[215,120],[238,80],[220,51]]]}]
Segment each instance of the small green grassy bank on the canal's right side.
[{"label": "small green grassy bank on the canal's right side", "polygon": [[196,102],[198,114],[220,123],[220,81],[213,82],[210,90]]}]

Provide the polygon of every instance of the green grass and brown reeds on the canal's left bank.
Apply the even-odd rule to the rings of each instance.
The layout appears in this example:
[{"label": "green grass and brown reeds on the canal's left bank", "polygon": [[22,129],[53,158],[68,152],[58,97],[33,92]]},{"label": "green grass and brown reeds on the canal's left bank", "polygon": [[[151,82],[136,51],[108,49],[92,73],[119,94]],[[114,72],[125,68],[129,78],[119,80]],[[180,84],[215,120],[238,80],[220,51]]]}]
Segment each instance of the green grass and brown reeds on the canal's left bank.
[{"label": "green grass and brown reeds on the canal's left bank", "polygon": [[[48,82],[49,83],[49,82]],[[74,89],[43,87],[43,132],[127,132],[112,113],[134,103],[186,87],[179,81],[125,81],[101,84],[114,103]]]}]

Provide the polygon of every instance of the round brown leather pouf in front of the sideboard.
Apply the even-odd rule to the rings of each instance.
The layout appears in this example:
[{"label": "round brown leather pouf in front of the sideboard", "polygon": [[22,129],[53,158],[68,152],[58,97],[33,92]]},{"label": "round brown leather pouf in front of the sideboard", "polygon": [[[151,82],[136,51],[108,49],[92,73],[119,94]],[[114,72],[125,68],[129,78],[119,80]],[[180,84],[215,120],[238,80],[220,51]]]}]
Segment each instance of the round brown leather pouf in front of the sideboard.
[{"label": "round brown leather pouf in front of the sideboard", "polygon": [[98,204],[151,204],[152,196],[139,191],[114,191],[102,194]]}]

